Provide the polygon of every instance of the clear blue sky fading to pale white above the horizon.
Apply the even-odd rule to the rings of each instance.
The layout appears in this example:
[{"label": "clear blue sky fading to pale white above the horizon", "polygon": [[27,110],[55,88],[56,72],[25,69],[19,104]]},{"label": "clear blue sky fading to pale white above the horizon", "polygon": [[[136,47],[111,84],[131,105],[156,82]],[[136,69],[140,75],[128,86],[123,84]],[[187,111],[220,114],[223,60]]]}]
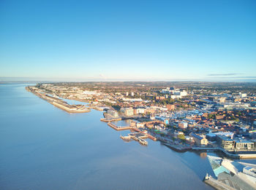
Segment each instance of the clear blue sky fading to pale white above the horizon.
[{"label": "clear blue sky fading to pale white above the horizon", "polygon": [[0,78],[256,79],[256,1],[0,1]]}]

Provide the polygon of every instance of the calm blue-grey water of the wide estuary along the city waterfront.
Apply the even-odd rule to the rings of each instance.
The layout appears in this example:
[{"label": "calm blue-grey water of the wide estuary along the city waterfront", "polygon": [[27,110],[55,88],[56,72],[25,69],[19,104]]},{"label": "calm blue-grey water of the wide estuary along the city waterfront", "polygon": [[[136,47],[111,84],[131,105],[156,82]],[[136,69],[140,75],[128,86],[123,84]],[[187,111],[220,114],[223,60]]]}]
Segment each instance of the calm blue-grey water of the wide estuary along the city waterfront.
[{"label": "calm blue-grey water of the wide estuary along the city waterfront", "polygon": [[211,189],[206,154],[124,142],[101,111],[68,114],[26,85],[0,84],[0,189]]}]

